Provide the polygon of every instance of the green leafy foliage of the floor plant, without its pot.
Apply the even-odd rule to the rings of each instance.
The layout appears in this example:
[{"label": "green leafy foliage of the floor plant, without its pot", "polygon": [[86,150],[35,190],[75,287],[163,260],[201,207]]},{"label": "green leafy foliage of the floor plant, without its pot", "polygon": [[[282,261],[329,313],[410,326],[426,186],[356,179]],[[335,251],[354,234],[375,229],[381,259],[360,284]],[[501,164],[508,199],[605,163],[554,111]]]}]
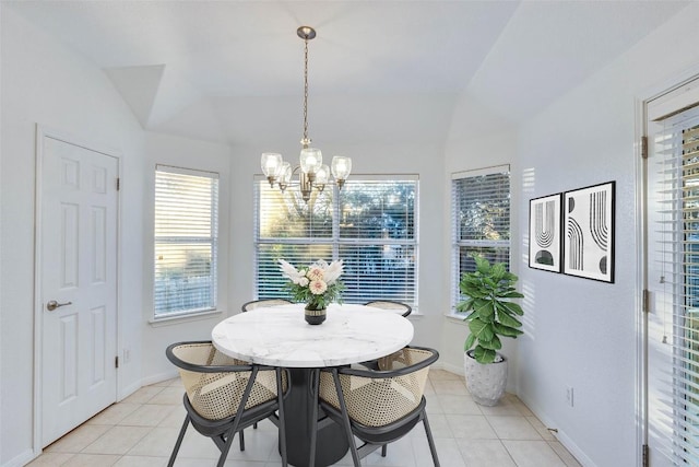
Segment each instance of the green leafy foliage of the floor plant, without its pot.
[{"label": "green leafy foliage of the floor plant, without its pot", "polygon": [[460,313],[469,313],[464,318],[471,331],[463,350],[474,346],[473,358],[478,363],[491,363],[497,351],[502,348],[499,336],[517,338],[522,331],[522,307],[512,299],[522,299],[514,289],[518,277],[509,272],[502,262],[490,265],[487,259],[474,255],[476,270],[464,272],[459,282],[461,293],[466,300],[457,305]]}]

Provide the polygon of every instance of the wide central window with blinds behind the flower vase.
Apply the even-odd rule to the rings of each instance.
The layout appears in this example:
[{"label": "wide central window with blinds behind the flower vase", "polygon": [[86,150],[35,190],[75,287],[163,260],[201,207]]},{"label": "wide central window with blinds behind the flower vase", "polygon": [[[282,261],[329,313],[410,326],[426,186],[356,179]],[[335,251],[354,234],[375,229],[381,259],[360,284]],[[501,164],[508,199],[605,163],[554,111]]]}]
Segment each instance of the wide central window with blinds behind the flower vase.
[{"label": "wide central window with blinds behind the flower vase", "polygon": [[313,190],[306,203],[295,187],[282,194],[256,180],[256,292],[284,296],[277,259],[304,266],[342,259],[343,301],[417,304],[416,176],[353,177],[341,191]]}]

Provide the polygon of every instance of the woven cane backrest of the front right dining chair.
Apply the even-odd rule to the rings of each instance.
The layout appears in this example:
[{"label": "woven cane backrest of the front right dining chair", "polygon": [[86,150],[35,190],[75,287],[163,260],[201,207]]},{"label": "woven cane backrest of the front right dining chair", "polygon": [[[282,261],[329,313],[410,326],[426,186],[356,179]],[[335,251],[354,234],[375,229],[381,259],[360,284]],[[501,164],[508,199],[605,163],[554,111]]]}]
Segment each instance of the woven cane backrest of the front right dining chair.
[{"label": "woven cane backrest of the front right dining chair", "polygon": [[[379,369],[381,371],[405,369],[433,355],[434,352],[429,350],[405,348],[381,358]],[[425,366],[407,374],[386,377],[380,373],[376,376],[350,375],[343,374],[340,370],[340,385],[347,415],[355,422],[366,427],[383,427],[405,417],[419,405],[425,393],[428,372],[429,366]],[[319,395],[328,404],[341,410],[332,373],[321,372]]]}]

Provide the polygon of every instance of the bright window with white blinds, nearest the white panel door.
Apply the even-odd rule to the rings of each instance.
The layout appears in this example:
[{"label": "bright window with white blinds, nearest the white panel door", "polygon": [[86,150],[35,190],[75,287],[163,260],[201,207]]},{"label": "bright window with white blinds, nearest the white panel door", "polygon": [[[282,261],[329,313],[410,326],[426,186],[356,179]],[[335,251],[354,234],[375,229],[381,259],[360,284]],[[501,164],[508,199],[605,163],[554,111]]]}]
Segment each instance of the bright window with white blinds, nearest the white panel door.
[{"label": "bright window with white blinds, nearest the white panel door", "polygon": [[155,167],[155,318],[216,308],[218,174]]}]

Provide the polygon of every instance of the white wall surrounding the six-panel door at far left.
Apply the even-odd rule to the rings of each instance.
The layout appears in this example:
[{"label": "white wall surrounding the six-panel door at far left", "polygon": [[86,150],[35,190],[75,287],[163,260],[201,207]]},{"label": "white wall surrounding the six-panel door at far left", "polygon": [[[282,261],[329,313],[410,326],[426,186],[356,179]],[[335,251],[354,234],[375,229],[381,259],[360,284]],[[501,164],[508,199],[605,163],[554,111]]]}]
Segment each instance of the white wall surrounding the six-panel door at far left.
[{"label": "white wall surrounding the six-panel door at far left", "polygon": [[[0,7],[1,8],[1,7]],[[107,78],[2,9],[2,243],[0,244],[0,465],[31,458],[33,433],[34,200],[36,124],[121,151],[121,293],[127,341],[139,341],[142,269],[142,131]],[[123,386],[140,365],[120,374]],[[28,456],[28,457],[27,457]]]}]

